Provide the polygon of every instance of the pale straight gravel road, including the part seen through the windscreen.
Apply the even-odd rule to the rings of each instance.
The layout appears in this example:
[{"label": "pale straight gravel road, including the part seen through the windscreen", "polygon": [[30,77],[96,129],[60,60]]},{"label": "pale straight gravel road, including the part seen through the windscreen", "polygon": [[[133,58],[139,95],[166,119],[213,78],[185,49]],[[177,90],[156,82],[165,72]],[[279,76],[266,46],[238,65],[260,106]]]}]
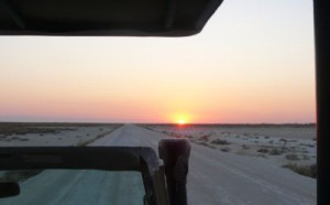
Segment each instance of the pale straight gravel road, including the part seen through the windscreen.
[{"label": "pale straight gravel road, including the part seen through the windscreen", "polygon": [[[125,125],[89,145],[145,145],[157,150],[168,138]],[[56,172],[56,173],[55,173]],[[44,171],[21,184],[18,197],[0,204],[143,204],[139,173]],[[316,204],[316,180],[270,164],[265,159],[220,152],[191,144],[188,204]]]}]

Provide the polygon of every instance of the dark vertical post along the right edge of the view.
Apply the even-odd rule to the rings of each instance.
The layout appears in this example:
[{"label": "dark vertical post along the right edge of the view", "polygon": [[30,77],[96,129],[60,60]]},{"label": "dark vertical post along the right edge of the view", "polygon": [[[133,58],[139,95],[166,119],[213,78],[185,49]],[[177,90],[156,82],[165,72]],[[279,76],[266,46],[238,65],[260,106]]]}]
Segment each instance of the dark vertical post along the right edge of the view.
[{"label": "dark vertical post along the right edge of the view", "polygon": [[330,1],[314,0],[317,82],[317,195],[318,205],[330,204]]}]

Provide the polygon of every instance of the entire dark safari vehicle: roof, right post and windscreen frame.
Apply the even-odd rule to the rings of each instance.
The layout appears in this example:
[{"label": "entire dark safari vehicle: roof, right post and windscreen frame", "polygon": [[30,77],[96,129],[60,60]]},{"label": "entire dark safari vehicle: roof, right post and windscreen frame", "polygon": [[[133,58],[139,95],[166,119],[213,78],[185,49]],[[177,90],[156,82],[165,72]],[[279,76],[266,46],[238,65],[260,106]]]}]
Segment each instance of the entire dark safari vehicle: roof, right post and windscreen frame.
[{"label": "entire dark safari vehicle: roof, right post and windscreen frame", "polygon": [[[0,1],[1,35],[95,35],[95,36],[188,36],[200,32],[222,0],[2,0]],[[330,204],[329,166],[326,150],[330,136],[330,2],[315,0],[316,76],[317,76],[317,143],[318,143],[318,204]],[[221,37],[221,36],[219,36]],[[167,144],[166,142],[164,142]],[[179,142],[168,143],[168,150]],[[167,145],[165,150],[167,150]],[[179,147],[179,145],[178,145]],[[185,145],[188,148],[188,145]],[[161,144],[164,148],[164,144]],[[165,151],[165,155],[169,153]],[[189,149],[188,149],[189,150]],[[77,154],[79,153],[79,154]],[[173,153],[173,152],[170,152]],[[187,152],[185,162],[187,162]],[[105,161],[95,161],[99,154],[108,154]],[[182,153],[173,153],[179,159]],[[162,155],[162,154],[161,154]],[[128,159],[118,164],[117,158]],[[163,157],[165,158],[165,157]],[[97,158],[98,159],[98,158]],[[108,161],[107,161],[108,160]],[[185,196],[174,188],[169,180],[170,169],[162,170],[155,153],[147,148],[1,148],[0,169],[103,169],[139,170],[144,176],[147,204],[185,204],[175,195]],[[47,163],[45,163],[47,161]],[[175,160],[174,160],[175,161]],[[50,163],[53,162],[53,163]],[[170,163],[169,163],[170,164]],[[187,165],[187,163],[186,163]],[[170,164],[167,168],[176,168]],[[177,166],[179,170],[183,166]],[[167,171],[166,171],[167,170]],[[187,170],[185,170],[187,171]],[[173,175],[172,175],[173,176]],[[184,174],[183,174],[184,176]],[[164,179],[166,179],[164,181]],[[183,180],[183,179],[182,179]],[[183,180],[182,182],[184,182]],[[185,186],[185,183],[182,184]],[[1,182],[1,197],[19,194],[18,184]],[[183,191],[183,192],[182,192]],[[167,194],[165,194],[167,193]],[[168,196],[168,197],[166,197]],[[163,197],[163,198],[162,198]]]}]

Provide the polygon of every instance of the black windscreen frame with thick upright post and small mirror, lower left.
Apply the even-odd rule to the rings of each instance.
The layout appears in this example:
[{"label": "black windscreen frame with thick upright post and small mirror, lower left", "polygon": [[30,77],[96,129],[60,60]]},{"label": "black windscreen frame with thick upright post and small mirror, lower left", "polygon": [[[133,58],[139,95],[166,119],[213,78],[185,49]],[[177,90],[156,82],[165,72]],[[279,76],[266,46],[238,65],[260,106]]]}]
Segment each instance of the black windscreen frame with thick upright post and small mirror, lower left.
[{"label": "black windscreen frame with thick upright post and small mirror, lower left", "polygon": [[[160,165],[155,151],[145,147],[1,148],[0,171],[42,172],[46,169],[138,171],[141,172],[144,183],[144,204],[185,205],[190,145],[187,140],[169,139],[163,140],[160,147],[164,148],[160,155],[166,157],[165,168]],[[16,181],[2,179],[0,197],[15,196],[19,193]]]}]

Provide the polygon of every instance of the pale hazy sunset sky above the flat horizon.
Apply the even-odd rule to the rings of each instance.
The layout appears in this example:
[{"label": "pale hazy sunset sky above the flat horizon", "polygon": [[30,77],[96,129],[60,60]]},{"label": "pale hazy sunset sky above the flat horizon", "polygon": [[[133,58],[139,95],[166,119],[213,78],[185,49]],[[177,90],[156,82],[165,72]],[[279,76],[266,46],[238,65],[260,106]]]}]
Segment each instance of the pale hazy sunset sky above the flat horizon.
[{"label": "pale hazy sunset sky above the flat horizon", "polygon": [[224,0],[190,37],[0,36],[0,121],[314,122],[311,0]]}]

